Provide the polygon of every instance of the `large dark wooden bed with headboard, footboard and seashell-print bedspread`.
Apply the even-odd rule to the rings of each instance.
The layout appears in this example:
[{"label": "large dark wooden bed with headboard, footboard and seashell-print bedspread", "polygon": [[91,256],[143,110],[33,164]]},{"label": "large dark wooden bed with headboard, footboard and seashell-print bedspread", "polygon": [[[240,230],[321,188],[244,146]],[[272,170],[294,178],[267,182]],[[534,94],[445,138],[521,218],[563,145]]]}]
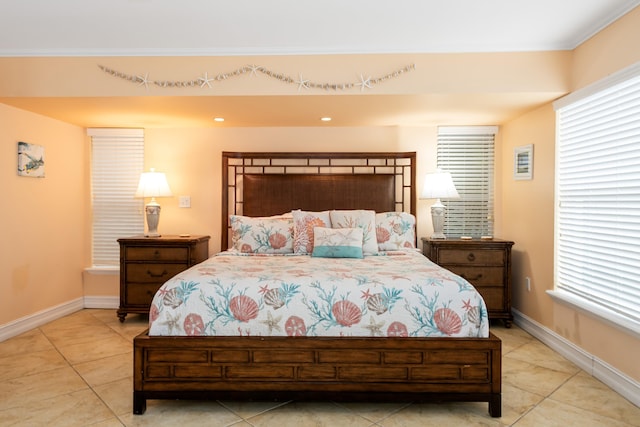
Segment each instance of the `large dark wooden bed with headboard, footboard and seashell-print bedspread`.
[{"label": "large dark wooden bed with headboard, footboard and seashell-print bedspread", "polygon": [[[133,412],[144,413],[148,399],[479,401],[488,403],[491,416],[501,416],[501,342],[488,331],[484,303],[466,294],[473,292],[466,281],[410,248],[322,260],[288,253],[256,255],[256,245],[265,243],[259,238],[246,251],[237,247],[244,225],[238,226],[237,218],[281,222],[283,214],[296,210],[415,216],[415,162],[415,153],[222,153],[221,247],[231,253],[181,273],[154,298],[150,330],[134,338]],[[357,227],[344,228],[351,233]],[[314,230],[317,235],[326,231]],[[313,250],[322,248],[318,242],[316,236]],[[272,246],[283,245],[277,240]],[[327,273],[333,276],[317,280],[324,277],[322,262],[346,264],[338,267],[340,277]],[[429,286],[453,281],[465,294],[463,303],[452,305],[465,305],[466,314],[452,324],[450,310],[439,303],[441,322],[448,326],[432,322],[431,329],[407,328],[407,316],[415,323],[420,310],[401,302],[406,300],[396,292],[396,282],[407,278],[385,270],[387,262],[400,270],[419,265],[435,273]],[[313,274],[305,272],[302,264],[307,263]],[[296,272],[296,281],[278,282],[266,273],[272,266]],[[220,282],[225,274],[241,270],[238,277],[262,287]],[[378,273],[387,276],[381,279]],[[212,295],[198,293],[204,281],[217,286]],[[291,295],[303,282],[311,284],[317,298],[298,298],[311,316],[300,319],[287,310],[293,310],[296,298]],[[331,283],[322,288],[320,282]],[[355,282],[356,290],[347,290],[347,282]],[[187,295],[213,317],[189,317],[191,309],[185,308],[179,318],[172,310],[186,307]],[[429,303],[427,297],[423,300]],[[402,321],[385,317],[392,315],[405,316],[402,327]],[[325,330],[334,336],[324,336]]]}]

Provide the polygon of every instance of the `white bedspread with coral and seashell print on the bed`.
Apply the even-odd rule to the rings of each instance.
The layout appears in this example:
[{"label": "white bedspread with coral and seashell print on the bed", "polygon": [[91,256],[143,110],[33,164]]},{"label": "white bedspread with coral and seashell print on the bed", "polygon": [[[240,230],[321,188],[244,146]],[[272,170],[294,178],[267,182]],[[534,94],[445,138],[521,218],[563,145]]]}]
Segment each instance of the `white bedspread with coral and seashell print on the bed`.
[{"label": "white bedspread with coral and seashell print on the bed", "polygon": [[150,335],[487,337],[466,280],[416,251],[316,258],[222,252],[153,299]]}]

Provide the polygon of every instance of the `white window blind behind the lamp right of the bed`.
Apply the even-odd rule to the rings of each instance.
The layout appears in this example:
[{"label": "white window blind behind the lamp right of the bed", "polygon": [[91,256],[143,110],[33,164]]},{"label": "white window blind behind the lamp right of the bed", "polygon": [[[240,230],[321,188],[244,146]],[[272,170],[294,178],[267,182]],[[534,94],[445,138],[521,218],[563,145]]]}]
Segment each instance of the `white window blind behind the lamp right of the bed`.
[{"label": "white window blind behind the lamp right of the bed", "polygon": [[451,173],[459,199],[443,200],[447,236],[492,236],[496,126],[438,128],[438,168]]}]

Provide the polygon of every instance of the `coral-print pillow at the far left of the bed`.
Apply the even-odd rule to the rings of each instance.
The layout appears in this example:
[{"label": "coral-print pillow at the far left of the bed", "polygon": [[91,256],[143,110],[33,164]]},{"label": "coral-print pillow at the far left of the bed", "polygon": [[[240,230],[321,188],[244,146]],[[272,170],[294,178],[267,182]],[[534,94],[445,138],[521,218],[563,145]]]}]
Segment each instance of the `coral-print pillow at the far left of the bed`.
[{"label": "coral-print pillow at the far left of the bed", "polygon": [[293,252],[291,218],[252,218],[231,215],[232,249],[243,253],[286,254]]}]

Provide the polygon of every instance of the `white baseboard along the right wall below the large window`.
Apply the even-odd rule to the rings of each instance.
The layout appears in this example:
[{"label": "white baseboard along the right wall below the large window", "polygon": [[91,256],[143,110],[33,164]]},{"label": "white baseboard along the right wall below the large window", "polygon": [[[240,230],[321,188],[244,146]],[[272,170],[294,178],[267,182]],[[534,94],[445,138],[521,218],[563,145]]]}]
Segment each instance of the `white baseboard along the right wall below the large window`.
[{"label": "white baseboard along the right wall below the large window", "polygon": [[571,341],[542,326],[518,310],[511,309],[514,323],[536,337],[542,343],[578,365],[589,375],[611,387],[616,393],[640,406],[640,383],[620,372],[608,363],[587,353]]}]

